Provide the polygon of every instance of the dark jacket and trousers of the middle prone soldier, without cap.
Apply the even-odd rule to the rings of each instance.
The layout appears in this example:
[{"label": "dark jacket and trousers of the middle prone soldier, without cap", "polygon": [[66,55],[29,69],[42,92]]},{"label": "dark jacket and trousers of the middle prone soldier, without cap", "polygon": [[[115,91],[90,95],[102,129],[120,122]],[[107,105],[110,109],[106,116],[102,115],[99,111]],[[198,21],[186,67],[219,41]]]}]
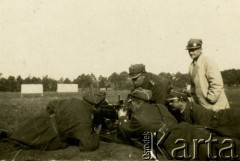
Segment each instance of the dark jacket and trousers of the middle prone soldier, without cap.
[{"label": "dark jacket and trousers of the middle prone soldier, without cap", "polygon": [[[160,112],[159,112],[160,110]],[[158,132],[162,123],[166,123],[169,129],[169,134],[164,137],[161,143],[161,149],[164,149],[169,156],[171,152],[179,145],[176,145],[177,139],[185,139],[189,143],[190,154],[193,154],[193,139],[208,139],[210,132],[202,126],[192,125],[187,122],[177,123],[177,120],[169,113],[165,106],[154,104],[144,104],[138,111],[133,113],[132,118],[129,120],[127,117],[122,116],[119,119],[119,130],[123,136],[131,141],[138,139],[143,141],[144,132]],[[163,133],[157,133],[157,139],[162,138]],[[140,140],[141,139],[141,140]],[[143,142],[144,143],[144,142]],[[144,145],[143,145],[144,146]],[[207,156],[207,146],[200,147],[200,159]]]}]

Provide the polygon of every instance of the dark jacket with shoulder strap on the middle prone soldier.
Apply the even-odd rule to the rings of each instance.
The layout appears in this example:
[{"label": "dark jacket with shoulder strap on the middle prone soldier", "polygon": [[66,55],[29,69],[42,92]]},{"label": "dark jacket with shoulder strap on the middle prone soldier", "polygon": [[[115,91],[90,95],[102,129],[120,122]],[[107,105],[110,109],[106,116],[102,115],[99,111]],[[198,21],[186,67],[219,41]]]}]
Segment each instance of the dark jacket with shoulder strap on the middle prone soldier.
[{"label": "dark jacket with shoulder strap on the middle prone soldier", "polygon": [[143,104],[131,119],[126,116],[119,118],[119,129],[125,138],[139,138],[143,132],[158,131],[163,122],[170,130],[177,125],[177,120],[163,105]]}]

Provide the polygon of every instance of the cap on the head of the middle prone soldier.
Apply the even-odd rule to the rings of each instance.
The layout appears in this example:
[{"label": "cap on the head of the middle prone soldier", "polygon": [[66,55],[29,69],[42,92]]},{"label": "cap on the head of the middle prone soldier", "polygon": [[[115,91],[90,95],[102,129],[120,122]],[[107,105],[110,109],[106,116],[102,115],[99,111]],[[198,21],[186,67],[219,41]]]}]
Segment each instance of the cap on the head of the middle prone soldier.
[{"label": "cap on the head of the middle prone soldier", "polygon": [[137,98],[143,101],[149,101],[152,98],[152,91],[142,88],[135,89],[131,94],[131,98]]}]

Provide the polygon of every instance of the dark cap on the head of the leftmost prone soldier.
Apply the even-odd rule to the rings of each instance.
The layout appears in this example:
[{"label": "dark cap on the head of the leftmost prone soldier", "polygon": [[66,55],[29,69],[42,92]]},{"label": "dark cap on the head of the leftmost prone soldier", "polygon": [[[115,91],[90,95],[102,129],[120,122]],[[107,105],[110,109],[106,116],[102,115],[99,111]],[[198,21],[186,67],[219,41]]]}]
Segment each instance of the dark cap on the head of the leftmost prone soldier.
[{"label": "dark cap on the head of the leftmost prone soldier", "polygon": [[88,91],[83,94],[83,99],[92,105],[98,105],[106,98],[106,93],[102,91]]}]

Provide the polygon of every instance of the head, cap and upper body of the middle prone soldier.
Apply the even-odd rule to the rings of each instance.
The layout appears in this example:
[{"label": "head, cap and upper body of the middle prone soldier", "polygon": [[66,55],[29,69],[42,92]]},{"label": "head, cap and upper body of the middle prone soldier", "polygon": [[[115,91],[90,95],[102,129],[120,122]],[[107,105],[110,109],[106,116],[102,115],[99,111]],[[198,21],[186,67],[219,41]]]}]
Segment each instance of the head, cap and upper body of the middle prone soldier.
[{"label": "head, cap and upper body of the middle prone soldier", "polygon": [[136,89],[130,94],[131,118],[122,109],[118,111],[119,129],[125,138],[139,138],[143,132],[160,129],[169,131],[177,125],[176,119],[165,106],[149,103],[151,96],[150,90]]}]

